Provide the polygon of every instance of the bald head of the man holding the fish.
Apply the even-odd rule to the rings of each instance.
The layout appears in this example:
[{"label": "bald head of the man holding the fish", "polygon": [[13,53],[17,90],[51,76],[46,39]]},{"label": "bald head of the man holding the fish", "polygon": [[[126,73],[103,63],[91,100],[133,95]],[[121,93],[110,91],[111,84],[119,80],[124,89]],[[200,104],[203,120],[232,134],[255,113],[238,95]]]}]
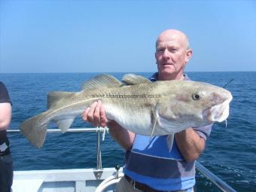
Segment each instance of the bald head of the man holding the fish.
[{"label": "bald head of the man holding the fish", "polygon": [[162,32],[156,43],[158,80],[181,79],[192,56],[187,36],[175,29]]}]

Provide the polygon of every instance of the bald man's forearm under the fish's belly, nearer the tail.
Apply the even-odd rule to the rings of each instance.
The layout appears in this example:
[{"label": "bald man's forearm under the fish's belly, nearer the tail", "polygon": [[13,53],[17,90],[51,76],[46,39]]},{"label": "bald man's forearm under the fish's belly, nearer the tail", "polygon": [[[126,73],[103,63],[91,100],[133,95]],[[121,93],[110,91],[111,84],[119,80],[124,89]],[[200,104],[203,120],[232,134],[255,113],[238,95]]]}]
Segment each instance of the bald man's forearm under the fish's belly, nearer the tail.
[{"label": "bald man's forearm under the fish's belly, nearer the tail", "polygon": [[112,138],[118,142],[125,150],[130,149],[133,146],[135,134],[124,129],[114,120],[108,122],[109,133]]}]

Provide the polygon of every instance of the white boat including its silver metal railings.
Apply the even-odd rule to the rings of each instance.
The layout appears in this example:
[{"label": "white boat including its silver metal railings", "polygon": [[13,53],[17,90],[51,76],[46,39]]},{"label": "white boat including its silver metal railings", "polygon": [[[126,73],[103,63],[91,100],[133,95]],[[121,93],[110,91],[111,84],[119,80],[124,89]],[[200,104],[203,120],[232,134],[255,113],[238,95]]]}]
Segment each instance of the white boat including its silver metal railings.
[{"label": "white boat including its silver metal railings", "polygon": [[[19,133],[20,130],[8,130],[8,133]],[[90,169],[52,169],[14,171],[12,192],[111,192],[115,184],[123,177],[122,167],[102,167],[100,140],[105,139],[107,127],[71,128],[68,133],[95,132],[96,167]],[[59,129],[49,129],[47,133],[61,133]],[[234,192],[232,187],[196,162],[196,169],[211,181],[220,191]],[[200,191],[200,189],[197,189]]]}]

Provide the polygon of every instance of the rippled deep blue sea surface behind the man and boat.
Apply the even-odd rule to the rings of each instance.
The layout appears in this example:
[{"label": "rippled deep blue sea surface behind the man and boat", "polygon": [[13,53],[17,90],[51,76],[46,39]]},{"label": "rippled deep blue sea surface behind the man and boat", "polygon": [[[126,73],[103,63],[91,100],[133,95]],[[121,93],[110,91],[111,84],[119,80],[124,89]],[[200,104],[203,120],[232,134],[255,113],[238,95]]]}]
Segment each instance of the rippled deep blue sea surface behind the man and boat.
[{"label": "rippled deep blue sea surface behind the man and boat", "polygon": [[[112,73],[122,78],[124,73]],[[149,77],[151,73],[137,73]],[[13,103],[11,129],[47,109],[47,93],[79,91],[97,73],[0,74]],[[223,87],[233,94],[230,117],[215,123],[199,161],[237,191],[256,191],[256,72],[187,72],[194,81]],[[78,117],[72,127],[90,127]],[[96,168],[96,133],[48,133],[41,149],[22,133],[8,133],[14,170]],[[123,164],[123,149],[107,134],[102,142],[102,166]],[[218,191],[197,174],[197,191]]]}]

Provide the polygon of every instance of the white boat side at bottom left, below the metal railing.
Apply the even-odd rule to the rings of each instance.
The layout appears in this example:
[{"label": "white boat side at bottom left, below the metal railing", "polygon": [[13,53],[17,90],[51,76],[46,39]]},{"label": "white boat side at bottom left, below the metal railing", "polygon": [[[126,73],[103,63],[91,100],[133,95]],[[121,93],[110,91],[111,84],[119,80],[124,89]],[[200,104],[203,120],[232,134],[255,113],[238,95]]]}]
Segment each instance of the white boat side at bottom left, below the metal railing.
[{"label": "white boat side at bottom left, below the metal railing", "polygon": [[[116,169],[15,171],[13,192],[94,192]],[[109,187],[111,190],[111,187]]]}]

